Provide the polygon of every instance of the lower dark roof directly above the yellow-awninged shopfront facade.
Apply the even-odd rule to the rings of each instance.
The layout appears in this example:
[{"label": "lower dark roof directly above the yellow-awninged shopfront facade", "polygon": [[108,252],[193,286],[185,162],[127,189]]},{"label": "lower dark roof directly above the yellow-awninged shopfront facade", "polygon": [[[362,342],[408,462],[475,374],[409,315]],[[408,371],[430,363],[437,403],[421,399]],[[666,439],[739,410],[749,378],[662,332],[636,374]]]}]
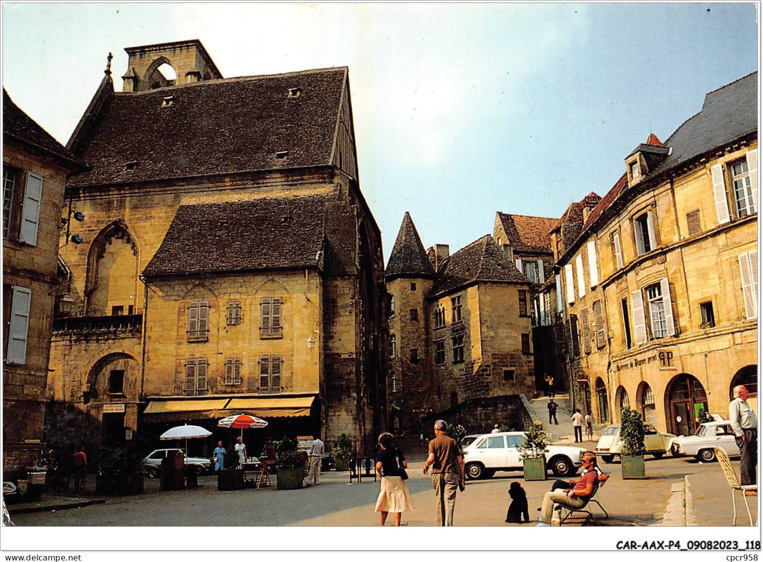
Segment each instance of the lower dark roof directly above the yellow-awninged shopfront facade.
[{"label": "lower dark roof directly above the yellow-awninged shopfront facade", "polygon": [[182,205],[143,275],[315,267],[327,202],[313,195]]}]

